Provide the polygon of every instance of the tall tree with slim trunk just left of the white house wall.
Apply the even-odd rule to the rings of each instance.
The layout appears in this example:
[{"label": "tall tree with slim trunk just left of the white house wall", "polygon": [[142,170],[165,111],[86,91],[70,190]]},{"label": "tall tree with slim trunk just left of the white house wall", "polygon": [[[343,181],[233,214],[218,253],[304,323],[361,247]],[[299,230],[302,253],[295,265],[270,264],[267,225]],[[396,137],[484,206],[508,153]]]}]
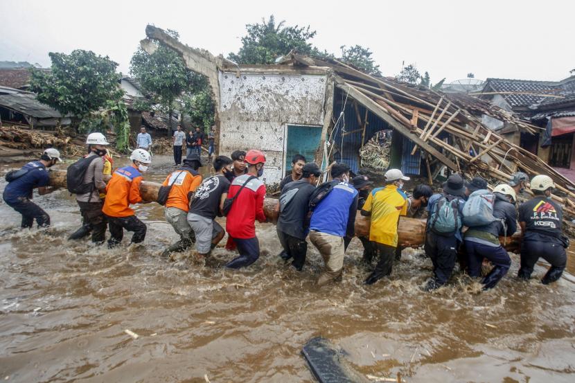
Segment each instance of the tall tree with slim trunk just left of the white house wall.
[{"label": "tall tree with slim trunk just left of the white house wall", "polygon": [[[175,30],[168,33],[177,39]],[[155,42],[158,48],[151,55],[140,46],[130,60],[130,73],[138,78],[143,89],[152,94],[154,100],[168,114],[168,134],[172,126],[172,111],[179,96],[188,90],[193,73],[174,50]]]}]

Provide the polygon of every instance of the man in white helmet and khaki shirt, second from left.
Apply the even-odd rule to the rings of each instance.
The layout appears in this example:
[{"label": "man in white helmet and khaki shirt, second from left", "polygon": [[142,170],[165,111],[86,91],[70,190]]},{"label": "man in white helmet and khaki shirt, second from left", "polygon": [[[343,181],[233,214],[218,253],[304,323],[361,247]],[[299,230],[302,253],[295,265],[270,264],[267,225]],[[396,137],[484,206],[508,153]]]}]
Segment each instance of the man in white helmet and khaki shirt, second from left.
[{"label": "man in white helmet and khaki shirt, second from left", "polygon": [[[102,133],[90,133],[87,136],[88,154],[76,164],[86,166],[83,184],[91,184],[91,191],[76,194],[76,202],[82,214],[82,226],[69,236],[69,240],[79,240],[91,233],[92,242],[103,243],[106,235],[106,217],[102,213],[104,206],[100,193],[106,190],[104,182],[104,159],[107,155],[106,137]],[[69,170],[70,171],[70,170]]]}]

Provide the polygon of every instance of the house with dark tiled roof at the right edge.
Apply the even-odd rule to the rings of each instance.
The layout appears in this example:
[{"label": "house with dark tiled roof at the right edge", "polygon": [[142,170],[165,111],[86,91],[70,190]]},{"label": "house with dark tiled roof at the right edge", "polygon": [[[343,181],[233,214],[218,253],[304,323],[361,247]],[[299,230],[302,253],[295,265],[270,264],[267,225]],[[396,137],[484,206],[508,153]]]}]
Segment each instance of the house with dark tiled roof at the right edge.
[{"label": "house with dark tiled roof at the right edge", "polygon": [[575,76],[561,81],[488,78],[476,94],[539,127],[530,134],[494,121],[499,134],[575,179]]}]

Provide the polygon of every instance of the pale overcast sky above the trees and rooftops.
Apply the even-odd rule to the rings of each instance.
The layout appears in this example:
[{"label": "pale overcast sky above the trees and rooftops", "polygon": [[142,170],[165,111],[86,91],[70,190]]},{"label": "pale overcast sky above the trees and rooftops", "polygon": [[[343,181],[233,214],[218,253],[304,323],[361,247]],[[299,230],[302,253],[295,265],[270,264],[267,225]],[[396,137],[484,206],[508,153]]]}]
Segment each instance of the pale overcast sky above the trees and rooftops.
[{"label": "pale overcast sky above the trees and rooftops", "polygon": [[466,78],[561,80],[575,68],[573,1],[29,1],[0,0],[0,60],[49,66],[48,52],[108,55],[127,74],[146,24],[179,31],[214,55],[238,51],[245,24],[274,15],[317,30],[339,53],[360,44],[384,75],[402,63],[432,82]]}]

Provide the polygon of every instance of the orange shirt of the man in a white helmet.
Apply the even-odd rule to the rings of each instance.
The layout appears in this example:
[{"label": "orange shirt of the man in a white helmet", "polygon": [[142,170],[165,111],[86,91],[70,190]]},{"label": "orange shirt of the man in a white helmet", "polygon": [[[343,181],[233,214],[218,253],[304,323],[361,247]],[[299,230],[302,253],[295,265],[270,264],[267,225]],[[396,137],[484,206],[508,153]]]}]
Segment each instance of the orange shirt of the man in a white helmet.
[{"label": "orange shirt of the man in a white helmet", "polygon": [[141,172],[134,166],[125,166],[112,174],[106,186],[106,199],[102,211],[110,217],[129,217],[134,215],[130,204],[141,202]]}]

